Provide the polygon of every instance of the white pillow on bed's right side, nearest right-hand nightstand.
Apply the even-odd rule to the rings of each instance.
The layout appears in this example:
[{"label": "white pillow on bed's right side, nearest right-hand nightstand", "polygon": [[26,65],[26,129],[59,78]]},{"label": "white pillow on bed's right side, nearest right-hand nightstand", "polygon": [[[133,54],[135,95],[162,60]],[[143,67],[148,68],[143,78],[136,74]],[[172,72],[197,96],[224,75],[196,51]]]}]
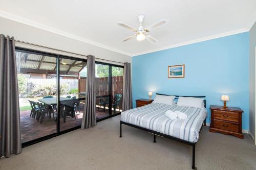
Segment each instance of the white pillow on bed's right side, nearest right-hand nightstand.
[{"label": "white pillow on bed's right side, nearest right-hand nightstand", "polygon": [[193,97],[179,97],[178,106],[187,106],[187,107],[196,107],[202,108],[204,107],[204,100],[200,98],[193,98]]}]

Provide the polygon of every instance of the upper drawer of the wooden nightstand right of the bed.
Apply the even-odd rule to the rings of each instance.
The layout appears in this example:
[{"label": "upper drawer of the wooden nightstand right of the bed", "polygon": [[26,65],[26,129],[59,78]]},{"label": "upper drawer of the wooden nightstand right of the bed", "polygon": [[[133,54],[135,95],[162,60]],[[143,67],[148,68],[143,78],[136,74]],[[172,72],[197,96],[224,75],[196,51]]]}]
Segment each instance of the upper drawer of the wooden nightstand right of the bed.
[{"label": "upper drawer of the wooden nightstand right of the bed", "polygon": [[214,110],[214,119],[221,119],[239,123],[239,114],[229,111]]}]

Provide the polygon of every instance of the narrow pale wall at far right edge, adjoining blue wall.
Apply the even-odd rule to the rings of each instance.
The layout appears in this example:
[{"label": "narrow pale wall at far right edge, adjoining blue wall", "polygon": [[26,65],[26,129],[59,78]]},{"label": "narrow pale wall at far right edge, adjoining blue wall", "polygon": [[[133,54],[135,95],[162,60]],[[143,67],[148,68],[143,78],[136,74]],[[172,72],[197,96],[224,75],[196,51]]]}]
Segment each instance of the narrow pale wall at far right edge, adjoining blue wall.
[{"label": "narrow pale wall at far right edge, adjoining blue wall", "polygon": [[[255,132],[255,47],[256,47],[256,22],[250,29],[250,57],[249,57],[249,90],[250,90],[250,108],[249,108],[249,120],[250,120],[250,127],[249,131],[250,134],[256,137]],[[256,140],[255,140],[256,144]]]}]

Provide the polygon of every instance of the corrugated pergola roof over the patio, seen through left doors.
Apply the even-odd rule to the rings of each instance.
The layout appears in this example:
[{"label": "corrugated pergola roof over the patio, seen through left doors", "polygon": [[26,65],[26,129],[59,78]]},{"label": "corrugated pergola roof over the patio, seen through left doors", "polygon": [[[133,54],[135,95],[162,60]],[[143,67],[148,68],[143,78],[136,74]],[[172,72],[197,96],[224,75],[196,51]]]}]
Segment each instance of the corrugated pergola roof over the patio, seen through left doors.
[{"label": "corrugated pergola roof over the patio, seen through left doors", "polygon": [[[56,70],[57,58],[54,57],[16,52],[16,59],[20,60],[20,62],[17,62],[20,64],[20,68],[49,71]],[[59,70],[66,72],[80,72],[86,65],[86,62],[60,58]]]}]

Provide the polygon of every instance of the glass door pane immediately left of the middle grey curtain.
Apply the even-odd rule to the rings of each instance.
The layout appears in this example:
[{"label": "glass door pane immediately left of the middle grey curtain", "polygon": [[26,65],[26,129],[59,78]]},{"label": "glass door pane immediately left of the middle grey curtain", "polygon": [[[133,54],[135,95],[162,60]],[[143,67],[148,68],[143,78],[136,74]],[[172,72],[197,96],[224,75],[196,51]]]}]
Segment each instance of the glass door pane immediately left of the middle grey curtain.
[{"label": "glass door pane immediately left of the middle grey curtain", "polygon": [[59,57],[60,131],[81,125],[86,96],[87,61]]}]

